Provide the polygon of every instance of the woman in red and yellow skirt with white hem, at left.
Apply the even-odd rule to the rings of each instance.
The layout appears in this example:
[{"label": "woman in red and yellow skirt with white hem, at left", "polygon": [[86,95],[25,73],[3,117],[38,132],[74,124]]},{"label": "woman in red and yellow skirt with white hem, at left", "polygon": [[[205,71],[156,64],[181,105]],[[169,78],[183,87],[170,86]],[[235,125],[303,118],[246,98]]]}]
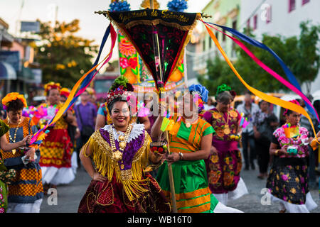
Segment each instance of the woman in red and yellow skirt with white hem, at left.
[{"label": "woman in red and yellow skirt with white hem, at left", "polygon": [[[43,106],[56,106],[60,109],[63,103],[60,102],[60,84],[50,82],[45,85],[47,103]],[[71,168],[71,155],[73,143],[68,134],[68,123],[75,120],[72,111],[68,110],[52,127],[45,140],[41,143],[40,166],[43,175],[43,189],[46,194],[50,187],[58,184],[68,184],[75,179]]]}]

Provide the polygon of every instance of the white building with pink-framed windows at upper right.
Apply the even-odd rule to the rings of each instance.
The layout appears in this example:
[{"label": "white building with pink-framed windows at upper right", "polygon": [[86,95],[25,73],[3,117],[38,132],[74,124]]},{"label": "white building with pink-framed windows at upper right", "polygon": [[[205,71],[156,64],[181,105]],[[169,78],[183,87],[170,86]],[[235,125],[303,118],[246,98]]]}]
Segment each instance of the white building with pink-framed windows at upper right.
[{"label": "white building with pink-framed windows at upper right", "polygon": [[[264,33],[299,36],[302,21],[320,24],[319,0],[242,0],[240,10],[238,31],[242,32],[243,28],[250,26],[257,40],[261,40]],[[285,74],[282,76],[285,77]],[[302,89],[305,92],[303,86]],[[311,94],[319,89],[320,73],[311,86]]]}]

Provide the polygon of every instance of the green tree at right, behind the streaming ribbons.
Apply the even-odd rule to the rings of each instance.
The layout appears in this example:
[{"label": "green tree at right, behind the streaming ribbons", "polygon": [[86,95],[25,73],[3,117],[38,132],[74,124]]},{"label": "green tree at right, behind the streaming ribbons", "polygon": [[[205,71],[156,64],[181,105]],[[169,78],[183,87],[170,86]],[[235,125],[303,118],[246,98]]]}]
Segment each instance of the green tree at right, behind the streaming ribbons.
[{"label": "green tree at right, behind the streaming ribbons", "polygon": [[[301,34],[299,37],[284,38],[281,35],[262,35],[262,43],[274,50],[274,52],[282,58],[300,84],[306,84],[307,94],[310,92],[311,82],[316,79],[320,65],[319,55],[317,54],[319,51],[317,42],[319,41],[320,26],[310,26],[309,23],[309,21],[306,21],[300,24]],[[245,30],[245,33],[254,38],[250,30]],[[255,48],[247,43],[245,43],[245,45],[257,58],[264,62],[265,65],[284,77],[284,79],[287,79],[281,65],[274,59],[270,52]],[[250,86],[262,92],[288,91],[287,87],[258,66],[252,58],[238,46],[236,51],[238,60],[234,63],[235,68]],[[239,92],[242,93],[245,91],[244,86],[231,70],[225,69],[228,65],[223,61],[224,60],[215,59],[208,62],[208,78],[200,75],[198,76],[199,82],[210,88],[215,87],[215,89],[217,85],[225,83],[233,87],[238,94]]]}]

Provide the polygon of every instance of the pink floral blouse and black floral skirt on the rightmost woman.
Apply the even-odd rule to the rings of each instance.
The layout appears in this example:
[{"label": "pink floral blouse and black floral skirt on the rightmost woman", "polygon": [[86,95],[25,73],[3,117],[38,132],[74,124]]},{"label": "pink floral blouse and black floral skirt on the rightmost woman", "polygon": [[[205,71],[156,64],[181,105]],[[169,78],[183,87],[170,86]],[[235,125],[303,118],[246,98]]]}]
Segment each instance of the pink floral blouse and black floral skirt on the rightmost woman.
[{"label": "pink floral blouse and black floral skirt on the rightmost woman", "polygon": [[[297,155],[285,154],[279,157],[274,156],[274,162],[270,175],[267,179],[267,188],[272,196],[275,196],[280,201],[284,201],[284,206],[290,211],[290,204],[305,205],[299,209],[309,211],[314,208],[308,187],[308,172],[307,160],[309,156],[308,143],[304,140],[309,138],[309,133],[306,128],[299,127],[299,135],[295,138],[287,138],[282,127],[277,128],[273,133],[274,138],[272,143],[278,145],[278,149],[294,147],[297,149]],[[310,202],[307,202],[311,199]]]}]

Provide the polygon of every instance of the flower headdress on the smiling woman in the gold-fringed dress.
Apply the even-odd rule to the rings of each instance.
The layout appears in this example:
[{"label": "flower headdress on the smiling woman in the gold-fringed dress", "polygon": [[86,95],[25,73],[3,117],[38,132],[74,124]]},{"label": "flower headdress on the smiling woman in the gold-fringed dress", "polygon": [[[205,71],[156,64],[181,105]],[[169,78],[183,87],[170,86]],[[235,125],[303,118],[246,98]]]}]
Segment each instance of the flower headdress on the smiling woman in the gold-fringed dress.
[{"label": "flower headdress on the smiling woman in the gold-fringed dress", "polygon": [[126,77],[117,77],[107,93],[106,103],[108,105],[112,100],[119,97],[121,97],[124,101],[129,101],[131,92],[133,91],[134,87],[129,83],[129,80]]}]

